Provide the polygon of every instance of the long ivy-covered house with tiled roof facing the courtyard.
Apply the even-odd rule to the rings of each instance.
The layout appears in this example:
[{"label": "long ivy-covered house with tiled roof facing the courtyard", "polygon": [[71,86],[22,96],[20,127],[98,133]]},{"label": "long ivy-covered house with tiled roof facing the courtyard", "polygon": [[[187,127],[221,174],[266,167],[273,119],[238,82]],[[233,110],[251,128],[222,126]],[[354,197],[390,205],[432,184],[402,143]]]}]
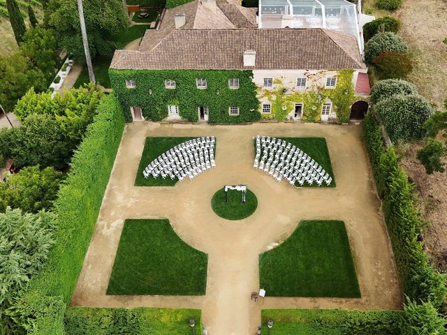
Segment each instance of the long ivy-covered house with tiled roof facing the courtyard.
[{"label": "long ivy-covered house with tiled roof facing the courtyard", "polygon": [[109,73],[128,122],[344,123],[369,90],[356,38],[328,29],[149,30]]}]

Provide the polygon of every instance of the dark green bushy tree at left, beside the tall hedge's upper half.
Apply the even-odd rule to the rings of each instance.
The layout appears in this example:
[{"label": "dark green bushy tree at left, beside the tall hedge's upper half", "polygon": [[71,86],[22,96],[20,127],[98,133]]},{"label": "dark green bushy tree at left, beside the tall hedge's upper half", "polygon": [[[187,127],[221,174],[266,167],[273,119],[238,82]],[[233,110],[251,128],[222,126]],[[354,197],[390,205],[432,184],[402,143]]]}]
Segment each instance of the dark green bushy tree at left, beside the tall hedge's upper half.
[{"label": "dark green bushy tree at left, beside the tall hedge's upper half", "polygon": [[[4,137],[1,133],[6,133]],[[0,131],[17,168],[40,165],[64,170],[75,147],[68,144],[60,124],[49,114],[31,114],[14,129]]]}]

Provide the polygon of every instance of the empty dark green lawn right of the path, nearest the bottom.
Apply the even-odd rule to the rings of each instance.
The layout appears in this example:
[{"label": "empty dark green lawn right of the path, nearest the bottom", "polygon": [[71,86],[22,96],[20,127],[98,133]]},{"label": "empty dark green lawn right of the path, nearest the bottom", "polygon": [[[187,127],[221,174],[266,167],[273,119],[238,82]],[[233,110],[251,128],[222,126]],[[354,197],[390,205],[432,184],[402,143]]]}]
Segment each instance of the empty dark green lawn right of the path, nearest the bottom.
[{"label": "empty dark green lawn right of the path, nearest the bottom", "polygon": [[301,221],[259,255],[260,285],[274,297],[360,297],[343,221]]}]

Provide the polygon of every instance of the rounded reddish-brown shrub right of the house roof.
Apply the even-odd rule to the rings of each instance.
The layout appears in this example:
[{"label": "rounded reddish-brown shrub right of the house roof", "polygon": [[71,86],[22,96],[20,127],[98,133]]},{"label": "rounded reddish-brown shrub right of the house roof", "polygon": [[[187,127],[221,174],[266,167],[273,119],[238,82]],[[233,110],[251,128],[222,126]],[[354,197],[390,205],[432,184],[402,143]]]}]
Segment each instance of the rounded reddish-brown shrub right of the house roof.
[{"label": "rounded reddish-brown shrub right of the house roof", "polygon": [[406,78],[413,70],[408,54],[384,50],[372,60],[380,79]]}]

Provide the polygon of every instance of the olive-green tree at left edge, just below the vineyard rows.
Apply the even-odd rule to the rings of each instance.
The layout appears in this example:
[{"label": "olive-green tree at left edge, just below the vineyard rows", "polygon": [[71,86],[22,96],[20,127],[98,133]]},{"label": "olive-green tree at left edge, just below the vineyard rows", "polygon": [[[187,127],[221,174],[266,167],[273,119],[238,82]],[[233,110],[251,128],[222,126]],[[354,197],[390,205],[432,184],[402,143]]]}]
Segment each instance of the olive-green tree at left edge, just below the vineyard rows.
[{"label": "olive-green tree at left edge, just below the vineyard rows", "polygon": [[34,87],[38,92],[47,89],[43,72],[19,52],[0,55],[0,101],[6,112],[12,112],[15,103]]}]

